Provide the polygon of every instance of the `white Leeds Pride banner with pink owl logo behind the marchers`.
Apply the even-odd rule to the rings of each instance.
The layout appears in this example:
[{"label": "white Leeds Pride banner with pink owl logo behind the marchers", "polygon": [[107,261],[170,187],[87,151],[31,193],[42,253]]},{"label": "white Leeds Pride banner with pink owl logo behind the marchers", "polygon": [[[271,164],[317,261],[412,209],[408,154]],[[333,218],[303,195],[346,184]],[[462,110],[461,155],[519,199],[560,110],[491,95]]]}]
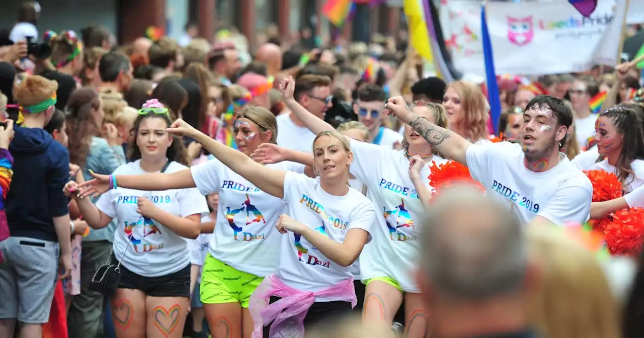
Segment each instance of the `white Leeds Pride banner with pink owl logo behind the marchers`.
[{"label": "white Leeds Pride banner with pink owl logo behind the marchers", "polygon": [[[546,75],[618,64],[625,0],[599,0],[583,17],[565,0],[488,2],[488,28],[497,74]],[[485,76],[480,3],[448,0],[440,24],[455,68]]]}]

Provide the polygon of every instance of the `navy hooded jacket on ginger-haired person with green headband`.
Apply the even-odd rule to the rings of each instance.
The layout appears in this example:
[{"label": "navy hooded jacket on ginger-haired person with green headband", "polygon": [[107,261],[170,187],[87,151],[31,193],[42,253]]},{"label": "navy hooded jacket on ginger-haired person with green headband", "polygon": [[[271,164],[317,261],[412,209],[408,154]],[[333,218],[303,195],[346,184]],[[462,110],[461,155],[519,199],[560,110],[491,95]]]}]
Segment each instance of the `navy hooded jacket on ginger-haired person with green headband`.
[{"label": "navy hooded jacket on ginger-haired person with green headband", "polygon": [[57,242],[52,218],[69,213],[62,189],[70,180],[70,154],[41,128],[15,126],[14,132],[14,177],[5,202],[11,236]]}]

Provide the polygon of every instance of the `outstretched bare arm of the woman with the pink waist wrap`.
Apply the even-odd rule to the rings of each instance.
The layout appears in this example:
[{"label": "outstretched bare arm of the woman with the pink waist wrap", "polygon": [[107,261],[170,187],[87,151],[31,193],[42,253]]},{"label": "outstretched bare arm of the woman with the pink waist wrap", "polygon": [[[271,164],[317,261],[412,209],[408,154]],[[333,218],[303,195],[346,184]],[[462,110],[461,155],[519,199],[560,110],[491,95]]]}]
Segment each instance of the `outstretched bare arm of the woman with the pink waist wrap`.
[{"label": "outstretched bare arm of the woman with the pink waist wrap", "polygon": [[167,131],[169,133],[194,138],[196,142],[199,142],[207,151],[220,160],[223,165],[226,165],[235,173],[242,175],[243,178],[249,180],[262,191],[278,198],[284,197],[285,171],[270,169],[258,164],[242,152],[217,142],[208,135],[194,129],[194,127],[187,124],[184,120],[176,120]]}]

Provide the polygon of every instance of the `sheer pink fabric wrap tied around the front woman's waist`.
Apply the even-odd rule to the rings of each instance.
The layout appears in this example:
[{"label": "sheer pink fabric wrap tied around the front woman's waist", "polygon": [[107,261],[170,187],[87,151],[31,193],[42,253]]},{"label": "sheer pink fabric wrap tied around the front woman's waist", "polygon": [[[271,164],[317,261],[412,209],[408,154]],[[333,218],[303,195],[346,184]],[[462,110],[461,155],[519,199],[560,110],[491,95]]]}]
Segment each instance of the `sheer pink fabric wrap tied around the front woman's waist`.
[{"label": "sheer pink fabric wrap tied around the front woman's waist", "polygon": [[[280,297],[269,305],[270,296]],[[296,290],[275,275],[264,278],[251,295],[249,310],[254,330],[252,338],[262,338],[264,324],[270,325],[270,338],[304,337],[304,317],[317,297],[334,297],[341,301],[357,304],[353,279],[346,279],[337,285],[317,292]]]}]

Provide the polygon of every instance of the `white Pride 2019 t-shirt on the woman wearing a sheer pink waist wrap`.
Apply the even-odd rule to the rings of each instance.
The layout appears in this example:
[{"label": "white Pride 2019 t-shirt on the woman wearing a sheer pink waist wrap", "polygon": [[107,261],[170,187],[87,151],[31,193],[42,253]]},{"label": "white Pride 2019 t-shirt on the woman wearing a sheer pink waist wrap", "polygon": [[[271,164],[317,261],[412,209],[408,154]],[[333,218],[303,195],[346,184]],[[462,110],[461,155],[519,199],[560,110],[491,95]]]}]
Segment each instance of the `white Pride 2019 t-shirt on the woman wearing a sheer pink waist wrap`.
[{"label": "white Pride 2019 t-shirt on the woman wearing a sheer pink waist wrap", "polygon": [[[305,174],[286,174],[283,201],[290,217],[338,243],[343,243],[349,230],[371,232],[375,223],[374,203],[359,191],[349,188],[345,196],[334,196],[320,187],[319,178]],[[303,236],[290,231],[278,236],[281,239],[275,275],[292,288],[316,292],[353,279],[350,266],[334,263]],[[343,299],[316,297],[316,301],[339,300]]]}]

